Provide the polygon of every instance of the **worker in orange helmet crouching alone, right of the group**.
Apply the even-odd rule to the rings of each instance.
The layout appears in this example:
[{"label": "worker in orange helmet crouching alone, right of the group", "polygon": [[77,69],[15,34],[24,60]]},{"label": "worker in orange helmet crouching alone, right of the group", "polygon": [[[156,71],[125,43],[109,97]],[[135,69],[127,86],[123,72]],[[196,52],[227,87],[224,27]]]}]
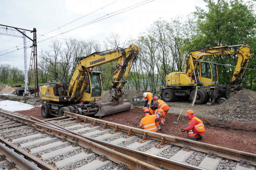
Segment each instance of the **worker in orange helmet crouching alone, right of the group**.
[{"label": "worker in orange helmet crouching alone, right of the group", "polygon": [[200,141],[204,134],[203,122],[194,116],[193,110],[188,110],[186,116],[190,119],[186,128],[181,129],[182,132],[188,131],[189,138],[192,141]]}]

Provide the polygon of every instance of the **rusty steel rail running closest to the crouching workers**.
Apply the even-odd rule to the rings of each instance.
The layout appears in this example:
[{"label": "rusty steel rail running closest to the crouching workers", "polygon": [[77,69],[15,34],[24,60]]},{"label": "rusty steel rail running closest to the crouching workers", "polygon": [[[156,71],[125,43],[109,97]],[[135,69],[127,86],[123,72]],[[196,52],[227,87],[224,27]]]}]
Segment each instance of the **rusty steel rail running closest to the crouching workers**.
[{"label": "rusty steel rail running closest to the crouching workers", "polygon": [[[129,130],[131,130],[133,133],[135,133],[136,135],[140,135],[140,136],[143,136],[143,134],[145,133],[145,130],[135,128],[135,127],[116,124],[113,122],[96,119],[96,118],[91,118],[88,116],[82,116],[80,114],[71,113],[71,112],[65,112],[65,114],[68,117],[74,117],[74,118],[82,119],[82,120],[87,119],[88,121],[91,121],[91,122],[96,121],[98,124],[103,125],[103,126],[104,126],[104,124],[107,124],[108,126],[110,126],[112,128],[115,128],[116,126],[118,126],[118,128],[121,129],[122,131],[129,132]],[[197,141],[191,141],[189,139],[184,139],[184,138],[175,137],[175,136],[166,135],[166,134],[160,134],[160,133],[156,133],[156,132],[152,132],[152,131],[146,131],[146,132],[147,132],[147,136],[149,136],[152,139],[156,139],[158,141],[161,141],[161,138],[164,136],[165,140],[173,145],[178,145],[181,147],[189,146],[193,150],[204,152],[204,153],[214,152],[215,154],[217,153],[218,156],[221,156],[221,157],[224,157],[227,159],[235,160],[238,162],[240,160],[247,160],[247,161],[251,162],[252,165],[256,165],[256,154],[253,154],[253,153],[238,151],[238,150],[234,150],[234,149],[230,149],[230,148],[225,148],[225,147],[211,145],[211,144],[197,142]]]}]

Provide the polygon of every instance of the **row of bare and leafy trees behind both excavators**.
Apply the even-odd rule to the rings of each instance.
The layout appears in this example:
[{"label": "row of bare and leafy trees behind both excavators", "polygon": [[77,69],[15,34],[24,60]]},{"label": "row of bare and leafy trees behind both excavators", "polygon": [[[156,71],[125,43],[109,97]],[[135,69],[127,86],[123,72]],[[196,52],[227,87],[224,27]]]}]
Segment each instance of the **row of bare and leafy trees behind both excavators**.
[{"label": "row of bare and leafy trees behind both excavators", "polygon": [[[144,32],[133,39],[124,39],[111,33],[103,43],[96,40],[51,41],[49,50],[39,52],[39,82],[45,83],[69,80],[73,60],[88,56],[96,51],[127,48],[131,43],[139,46],[140,54],[133,63],[127,80],[132,88],[141,91],[159,91],[165,86],[165,76],[175,71],[185,71],[188,51],[205,46],[238,45],[247,43],[252,49],[252,59],[247,68],[256,69],[255,64],[255,26],[254,2],[242,0],[204,0],[206,9],[195,7],[196,11],[187,16],[178,16],[169,20],[158,19]],[[104,44],[104,45],[99,45]],[[238,47],[239,48],[239,47]],[[234,56],[206,56],[204,61],[217,65],[219,84],[229,84],[237,59]],[[225,66],[230,65],[230,66]],[[101,71],[104,90],[109,90],[116,62],[110,62],[95,68]],[[4,72],[0,68],[1,80]],[[246,70],[242,85],[249,90],[256,90],[256,71]],[[17,79],[17,78],[16,78]]]}]

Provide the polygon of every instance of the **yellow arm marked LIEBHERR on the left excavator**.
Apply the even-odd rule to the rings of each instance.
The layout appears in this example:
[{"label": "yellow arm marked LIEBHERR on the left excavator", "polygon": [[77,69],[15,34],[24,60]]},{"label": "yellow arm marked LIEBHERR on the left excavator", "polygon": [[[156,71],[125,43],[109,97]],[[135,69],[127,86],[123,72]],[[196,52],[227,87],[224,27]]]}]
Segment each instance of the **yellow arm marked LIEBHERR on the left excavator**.
[{"label": "yellow arm marked LIEBHERR on the left excavator", "polygon": [[[138,46],[131,44],[129,48],[126,49],[117,48],[103,52],[95,52],[89,56],[79,58],[67,91],[70,100],[83,100],[82,93],[84,93],[83,88],[86,83],[84,77],[87,73],[90,73],[90,71],[93,70],[93,67],[118,60],[110,87],[110,93],[113,96],[112,101],[118,101],[123,95],[121,89],[125,83],[127,83],[126,77],[130,71],[131,64],[137,59],[139,51],[140,49]],[[124,80],[121,80],[124,72],[125,78]],[[80,83],[82,83],[82,85],[78,86]]]}]

